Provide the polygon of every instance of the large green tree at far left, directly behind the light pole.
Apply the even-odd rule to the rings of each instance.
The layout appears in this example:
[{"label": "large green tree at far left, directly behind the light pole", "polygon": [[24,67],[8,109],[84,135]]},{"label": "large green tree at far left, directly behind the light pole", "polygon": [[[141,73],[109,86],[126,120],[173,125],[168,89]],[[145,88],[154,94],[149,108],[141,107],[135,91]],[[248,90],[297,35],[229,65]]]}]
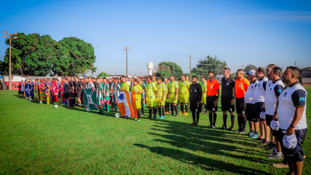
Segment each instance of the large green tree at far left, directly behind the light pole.
[{"label": "large green tree at far left, directly behind the light pole", "polygon": [[[9,45],[9,39],[5,41]],[[51,58],[56,41],[49,35],[18,33],[11,43],[12,74],[46,76],[51,73]],[[8,74],[9,48],[1,63],[1,74]]]}]

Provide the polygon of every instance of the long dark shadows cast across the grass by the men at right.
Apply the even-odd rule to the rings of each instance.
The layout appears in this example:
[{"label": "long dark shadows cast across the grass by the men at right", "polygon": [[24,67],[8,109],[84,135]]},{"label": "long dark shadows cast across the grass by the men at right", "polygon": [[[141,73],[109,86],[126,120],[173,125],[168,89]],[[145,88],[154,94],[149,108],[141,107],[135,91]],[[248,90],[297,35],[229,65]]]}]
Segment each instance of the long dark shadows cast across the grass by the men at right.
[{"label": "long dark shadows cast across the grass by the men at right", "polygon": [[[152,128],[153,130],[165,132],[164,134],[153,132],[148,133],[150,135],[160,136],[163,138],[154,139],[154,141],[170,144],[179,149],[160,146],[150,147],[139,143],[134,144],[135,146],[147,148],[153,153],[170,157],[183,163],[198,166],[206,171],[218,170],[220,172],[227,171],[233,174],[270,174],[258,169],[234,165],[233,163],[227,163],[221,160],[226,158],[234,158],[240,159],[242,163],[244,161],[253,162],[252,164],[267,163],[261,158],[255,158],[255,156],[251,155],[252,153],[247,152],[247,149],[243,147],[244,145],[250,147],[254,147],[256,145],[248,143],[245,140],[241,140],[241,137],[235,135],[234,133],[230,133],[229,131],[206,129],[204,126],[193,127],[184,122],[169,120],[157,121],[153,126],[156,127]],[[199,151],[209,155],[203,157],[182,151],[180,149],[188,149],[193,152]],[[252,149],[248,150],[253,151]],[[218,156],[219,158],[215,159],[215,156],[211,155]],[[221,158],[220,156],[225,156],[226,158]]]}]

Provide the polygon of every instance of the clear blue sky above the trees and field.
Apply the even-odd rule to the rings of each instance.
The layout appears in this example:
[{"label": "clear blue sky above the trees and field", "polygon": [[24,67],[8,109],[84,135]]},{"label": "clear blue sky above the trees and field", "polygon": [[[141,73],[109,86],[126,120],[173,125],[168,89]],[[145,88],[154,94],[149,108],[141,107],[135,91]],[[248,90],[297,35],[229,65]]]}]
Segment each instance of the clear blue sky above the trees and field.
[{"label": "clear blue sky above the trees and field", "polygon": [[[174,61],[189,73],[201,53],[239,66],[311,66],[311,1],[14,1],[2,6],[8,32],[76,36],[95,49],[97,73],[146,75]],[[8,47],[0,42],[0,59]],[[97,75],[94,73],[93,75]]]}]

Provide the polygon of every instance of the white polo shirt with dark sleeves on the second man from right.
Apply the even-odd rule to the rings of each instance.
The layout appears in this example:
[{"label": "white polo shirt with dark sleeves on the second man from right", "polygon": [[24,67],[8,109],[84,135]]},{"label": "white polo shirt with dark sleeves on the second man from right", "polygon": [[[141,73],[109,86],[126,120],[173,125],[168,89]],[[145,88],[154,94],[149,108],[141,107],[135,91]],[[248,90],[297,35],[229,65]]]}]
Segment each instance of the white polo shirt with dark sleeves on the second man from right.
[{"label": "white polo shirt with dark sleeves on the second man from right", "polygon": [[269,80],[266,86],[265,109],[266,114],[273,116],[276,108],[276,101],[277,101],[276,98],[279,97],[281,93],[284,91],[284,84],[281,81],[281,78],[275,80],[272,83],[271,82],[272,80]]}]

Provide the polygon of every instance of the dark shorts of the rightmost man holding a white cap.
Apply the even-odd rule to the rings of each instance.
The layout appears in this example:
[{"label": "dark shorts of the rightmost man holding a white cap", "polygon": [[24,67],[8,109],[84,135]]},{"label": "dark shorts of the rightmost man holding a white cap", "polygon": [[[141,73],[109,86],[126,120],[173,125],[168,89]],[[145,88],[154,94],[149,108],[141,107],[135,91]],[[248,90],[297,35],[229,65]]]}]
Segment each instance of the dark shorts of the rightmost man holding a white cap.
[{"label": "dark shorts of the rightmost man holding a white cap", "polygon": [[285,135],[282,132],[283,130],[280,128],[277,131],[276,140],[280,142],[284,158],[287,158],[287,160],[293,161],[293,162],[304,161],[304,151],[302,150],[302,144],[304,143],[304,139],[306,137],[307,130],[308,130],[308,128],[304,128],[304,129],[301,129],[301,130],[295,130],[295,132],[294,132],[294,134],[296,135],[296,138],[297,138],[297,146],[298,146],[298,152],[296,154],[291,154],[288,151],[288,149],[286,149],[283,146],[283,137]]}]

